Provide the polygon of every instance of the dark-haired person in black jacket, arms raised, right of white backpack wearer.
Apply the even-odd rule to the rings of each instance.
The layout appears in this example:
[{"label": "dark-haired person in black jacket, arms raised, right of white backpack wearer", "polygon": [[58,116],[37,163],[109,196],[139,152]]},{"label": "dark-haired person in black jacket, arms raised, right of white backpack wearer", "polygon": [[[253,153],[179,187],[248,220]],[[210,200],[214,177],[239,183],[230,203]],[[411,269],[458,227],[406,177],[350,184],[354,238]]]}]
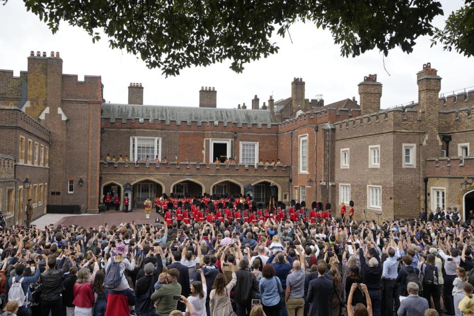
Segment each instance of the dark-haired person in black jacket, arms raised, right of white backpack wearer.
[{"label": "dark-haired person in black jacket, arms raised, right of white backpack wearer", "polygon": [[[40,274],[43,288],[41,290],[41,316],[60,316],[61,314],[61,297],[60,294],[64,291],[64,285],[61,276],[69,271],[70,251],[66,250],[65,255],[61,253],[59,261],[55,256],[47,257],[46,270]],[[58,264],[59,262],[59,264]],[[56,269],[56,264],[61,265],[61,269]]]}]

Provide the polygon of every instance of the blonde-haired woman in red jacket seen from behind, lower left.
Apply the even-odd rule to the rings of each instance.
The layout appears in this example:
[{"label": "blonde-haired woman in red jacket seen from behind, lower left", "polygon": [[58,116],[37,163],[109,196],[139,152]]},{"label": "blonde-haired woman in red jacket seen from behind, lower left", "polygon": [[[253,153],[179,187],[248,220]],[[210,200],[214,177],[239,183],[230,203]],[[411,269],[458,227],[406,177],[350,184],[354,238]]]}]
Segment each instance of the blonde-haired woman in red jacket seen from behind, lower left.
[{"label": "blonde-haired woman in red jacket seen from behind, lower left", "polygon": [[95,302],[92,283],[89,282],[89,268],[82,268],[78,271],[78,279],[74,284],[74,315],[75,316],[92,316],[92,306]]}]

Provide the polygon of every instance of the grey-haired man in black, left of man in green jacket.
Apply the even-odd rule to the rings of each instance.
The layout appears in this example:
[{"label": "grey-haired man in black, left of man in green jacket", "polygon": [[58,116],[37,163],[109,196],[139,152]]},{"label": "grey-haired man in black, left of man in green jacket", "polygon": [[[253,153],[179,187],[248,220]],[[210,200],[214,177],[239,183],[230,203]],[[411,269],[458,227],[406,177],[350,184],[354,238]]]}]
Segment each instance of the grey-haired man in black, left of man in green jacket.
[{"label": "grey-haired man in black, left of man in green jacket", "polygon": [[137,297],[136,312],[137,315],[155,315],[156,310],[154,302],[150,299],[154,291],[153,285],[158,281],[158,278],[153,275],[155,266],[152,263],[147,263],[143,267],[145,276],[139,278],[135,285],[135,295]]}]

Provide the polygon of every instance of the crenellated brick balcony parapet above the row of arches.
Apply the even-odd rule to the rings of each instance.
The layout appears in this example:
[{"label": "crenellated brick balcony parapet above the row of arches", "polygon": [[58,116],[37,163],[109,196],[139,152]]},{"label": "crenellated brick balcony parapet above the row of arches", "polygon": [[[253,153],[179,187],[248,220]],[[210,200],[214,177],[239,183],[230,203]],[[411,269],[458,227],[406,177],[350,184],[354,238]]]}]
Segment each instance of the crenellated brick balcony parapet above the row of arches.
[{"label": "crenellated brick balcony parapet above the row of arches", "polygon": [[240,175],[240,176],[265,176],[265,175],[274,175],[274,176],[290,176],[290,166],[289,165],[268,165],[258,164],[256,166],[248,166],[243,164],[205,164],[203,162],[180,162],[176,164],[175,162],[164,163],[160,162],[156,164],[155,162],[146,162],[128,163],[125,162],[112,162],[109,161],[100,161],[100,171],[102,174],[120,174],[120,173],[136,173],[136,174],[173,174],[173,175]]}]

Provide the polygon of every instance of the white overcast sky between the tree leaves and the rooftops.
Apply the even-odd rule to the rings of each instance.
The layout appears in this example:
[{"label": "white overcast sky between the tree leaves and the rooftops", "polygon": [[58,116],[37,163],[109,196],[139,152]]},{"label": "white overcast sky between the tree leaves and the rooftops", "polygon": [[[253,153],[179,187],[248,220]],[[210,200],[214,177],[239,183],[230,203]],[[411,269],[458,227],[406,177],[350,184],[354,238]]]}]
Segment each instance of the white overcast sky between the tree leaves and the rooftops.
[{"label": "white overcast sky between the tree leaves and the rooftops", "polygon": [[[445,16],[459,8],[462,0],[441,0]],[[444,17],[435,20],[441,27]],[[142,83],[144,103],[156,105],[198,106],[201,86],[215,87],[217,106],[235,108],[238,103],[251,107],[255,94],[260,105],[271,94],[274,99],[291,95],[294,77],[306,82],[306,98],[322,94],[325,104],[357,94],[357,84],[368,74],[377,74],[383,84],[382,108],[417,99],[416,73],[426,62],[438,70],[443,78],[441,92],[474,86],[474,57],[467,58],[456,52],[443,51],[441,46],[430,48],[429,38],[419,38],[414,52],[405,54],[395,48],[385,58],[369,51],[356,58],[340,56],[330,32],[318,30],[313,24],[298,23],[290,28],[291,38],[275,37],[280,46],[278,54],[245,65],[237,74],[229,69],[230,62],[209,67],[193,67],[181,71],[177,77],[165,78],[159,69],[148,69],[144,62],[124,50],[109,48],[103,38],[93,44],[91,38],[77,27],[62,23],[52,35],[46,24],[31,12],[23,1],[9,0],[0,5],[0,69],[10,69],[18,76],[27,70],[31,50],[59,51],[63,59],[63,73],[100,75],[104,97],[114,103],[127,102],[130,82]],[[470,90],[474,89],[471,88]]]}]

